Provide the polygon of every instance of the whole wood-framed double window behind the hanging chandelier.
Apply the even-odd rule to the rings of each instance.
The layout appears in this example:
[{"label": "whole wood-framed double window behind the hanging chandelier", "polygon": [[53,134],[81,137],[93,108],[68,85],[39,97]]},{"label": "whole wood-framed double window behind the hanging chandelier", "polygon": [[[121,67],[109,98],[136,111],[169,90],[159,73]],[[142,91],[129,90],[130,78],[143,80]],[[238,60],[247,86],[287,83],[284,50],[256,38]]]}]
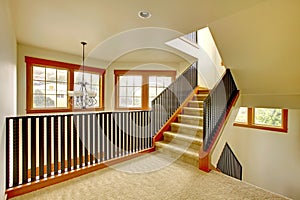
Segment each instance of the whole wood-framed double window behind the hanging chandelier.
[{"label": "whole wood-framed double window behind the hanging chandelier", "polygon": [[[80,65],[25,57],[27,77],[27,113],[70,112],[76,110],[68,91],[78,89]],[[97,95],[93,110],[103,109],[103,75],[105,70],[85,67],[85,82]]]}]

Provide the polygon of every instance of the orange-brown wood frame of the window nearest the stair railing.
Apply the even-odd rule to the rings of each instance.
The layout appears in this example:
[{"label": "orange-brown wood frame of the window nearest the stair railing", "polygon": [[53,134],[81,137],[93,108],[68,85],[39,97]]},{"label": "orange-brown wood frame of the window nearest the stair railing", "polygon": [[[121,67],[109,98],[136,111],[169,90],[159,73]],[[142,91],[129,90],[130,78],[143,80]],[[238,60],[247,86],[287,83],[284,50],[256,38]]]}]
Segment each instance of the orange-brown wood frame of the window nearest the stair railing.
[{"label": "orange-brown wood frame of the window nearest the stair railing", "polygon": [[[176,78],[175,70],[114,70],[115,74],[115,109],[116,110],[150,110],[149,107],[149,76],[168,76],[172,82]],[[120,107],[119,106],[119,78],[124,75],[142,76],[142,106],[141,107]]]}]

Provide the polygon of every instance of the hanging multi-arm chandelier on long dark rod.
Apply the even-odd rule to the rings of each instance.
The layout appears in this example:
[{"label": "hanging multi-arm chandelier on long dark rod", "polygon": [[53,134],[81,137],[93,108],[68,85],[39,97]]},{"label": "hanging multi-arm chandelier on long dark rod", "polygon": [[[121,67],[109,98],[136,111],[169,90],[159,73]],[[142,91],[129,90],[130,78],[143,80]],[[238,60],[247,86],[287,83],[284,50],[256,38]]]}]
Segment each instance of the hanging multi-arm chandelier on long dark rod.
[{"label": "hanging multi-arm chandelier on long dark rod", "polygon": [[88,107],[94,106],[97,103],[95,91],[89,91],[87,86],[88,82],[84,81],[84,48],[87,44],[86,42],[81,42],[82,44],[82,79],[78,82],[79,90],[78,91],[68,91],[70,97],[70,103],[74,104],[79,109],[86,109]]}]

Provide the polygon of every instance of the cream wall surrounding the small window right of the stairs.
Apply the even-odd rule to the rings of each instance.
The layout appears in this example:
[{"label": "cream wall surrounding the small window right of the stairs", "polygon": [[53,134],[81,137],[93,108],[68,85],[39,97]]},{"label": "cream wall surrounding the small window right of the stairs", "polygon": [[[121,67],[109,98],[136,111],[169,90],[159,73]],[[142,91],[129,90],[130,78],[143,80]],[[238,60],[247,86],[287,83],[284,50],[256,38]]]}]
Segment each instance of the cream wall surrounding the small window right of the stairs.
[{"label": "cream wall surrounding the small window right of the stairs", "polygon": [[212,154],[217,165],[227,142],[243,168],[243,181],[289,198],[300,199],[300,110],[289,109],[288,133],[233,126],[236,104]]}]

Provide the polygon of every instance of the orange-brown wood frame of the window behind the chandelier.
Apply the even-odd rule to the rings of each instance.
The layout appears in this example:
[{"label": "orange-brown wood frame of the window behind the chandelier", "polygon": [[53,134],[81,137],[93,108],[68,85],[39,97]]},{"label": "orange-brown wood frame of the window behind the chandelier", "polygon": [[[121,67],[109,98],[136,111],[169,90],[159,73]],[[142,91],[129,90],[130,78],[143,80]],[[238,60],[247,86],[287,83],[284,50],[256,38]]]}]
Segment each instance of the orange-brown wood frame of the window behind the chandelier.
[{"label": "orange-brown wood frame of the window behind the chandelier", "polygon": [[71,64],[65,63],[60,61],[54,60],[47,60],[42,58],[34,58],[25,56],[26,62],[26,113],[54,113],[54,112],[76,112],[76,111],[95,111],[95,110],[104,110],[104,75],[105,69],[94,68],[84,66],[84,71],[89,73],[97,73],[100,75],[99,80],[99,94],[101,97],[99,98],[99,107],[93,107],[88,109],[78,109],[74,108],[73,105],[70,103],[70,97],[67,94],[67,107],[66,108],[33,108],[33,67],[48,67],[48,68],[55,68],[55,69],[65,69],[68,70],[68,79],[67,79],[67,87],[68,91],[74,90],[74,72],[75,71],[82,71],[82,66],[78,64]]}]

